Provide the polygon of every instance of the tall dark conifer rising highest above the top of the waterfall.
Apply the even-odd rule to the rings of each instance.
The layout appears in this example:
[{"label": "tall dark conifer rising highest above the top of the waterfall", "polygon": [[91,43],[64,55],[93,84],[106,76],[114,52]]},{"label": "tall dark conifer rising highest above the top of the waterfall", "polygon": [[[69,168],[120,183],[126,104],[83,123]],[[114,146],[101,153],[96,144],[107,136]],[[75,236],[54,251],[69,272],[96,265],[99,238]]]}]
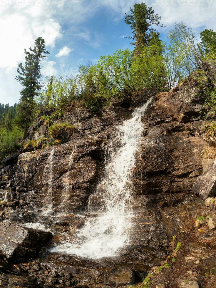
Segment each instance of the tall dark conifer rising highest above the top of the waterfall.
[{"label": "tall dark conifer rising highest above the top of the waterfall", "polygon": [[125,23],[128,24],[132,30],[133,40],[132,45],[135,45],[135,52],[139,53],[140,49],[149,46],[150,39],[155,31],[152,25],[164,27],[160,24],[161,17],[155,14],[155,11],[148,7],[145,3],[135,4],[130,8],[131,14],[125,13]]}]

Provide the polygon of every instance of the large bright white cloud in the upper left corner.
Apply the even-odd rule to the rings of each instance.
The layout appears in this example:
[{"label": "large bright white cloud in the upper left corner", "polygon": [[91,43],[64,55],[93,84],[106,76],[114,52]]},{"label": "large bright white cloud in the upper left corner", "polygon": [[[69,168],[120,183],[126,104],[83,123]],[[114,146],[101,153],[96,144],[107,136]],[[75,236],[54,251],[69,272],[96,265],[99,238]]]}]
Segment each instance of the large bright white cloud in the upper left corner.
[{"label": "large bright white cloud in the upper left corner", "polygon": [[61,37],[60,24],[45,9],[47,2],[40,2],[41,5],[37,5],[36,0],[31,1],[32,5],[9,3],[0,6],[0,68],[7,72],[24,60],[24,48],[34,46],[38,36],[46,40],[47,48],[53,47]]}]

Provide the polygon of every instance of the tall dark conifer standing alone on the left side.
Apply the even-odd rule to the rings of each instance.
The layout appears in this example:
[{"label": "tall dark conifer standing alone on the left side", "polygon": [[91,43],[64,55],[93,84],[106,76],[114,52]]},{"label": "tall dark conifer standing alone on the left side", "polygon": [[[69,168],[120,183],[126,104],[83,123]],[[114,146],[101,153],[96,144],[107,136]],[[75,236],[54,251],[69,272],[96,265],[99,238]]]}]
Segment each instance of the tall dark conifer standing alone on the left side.
[{"label": "tall dark conifer standing alone on the left side", "polygon": [[20,91],[20,103],[18,106],[19,117],[17,121],[21,128],[24,129],[24,138],[28,132],[31,121],[34,117],[35,102],[34,98],[38,95],[41,85],[41,60],[49,54],[45,49],[45,40],[38,37],[35,40],[34,48],[25,49],[25,66],[22,63],[17,68],[18,76],[16,80],[24,88]]}]

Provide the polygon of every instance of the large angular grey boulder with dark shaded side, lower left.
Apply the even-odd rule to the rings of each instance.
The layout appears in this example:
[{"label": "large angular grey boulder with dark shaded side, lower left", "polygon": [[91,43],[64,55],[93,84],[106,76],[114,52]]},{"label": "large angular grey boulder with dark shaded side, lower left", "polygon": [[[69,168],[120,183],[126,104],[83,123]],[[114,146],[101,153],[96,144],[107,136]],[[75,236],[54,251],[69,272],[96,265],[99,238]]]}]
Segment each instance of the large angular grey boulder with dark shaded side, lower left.
[{"label": "large angular grey boulder with dark shaded side, lower left", "polygon": [[6,258],[25,260],[36,254],[51,237],[50,232],[21,227],[9,221],[0,222],[0,250]]}]

